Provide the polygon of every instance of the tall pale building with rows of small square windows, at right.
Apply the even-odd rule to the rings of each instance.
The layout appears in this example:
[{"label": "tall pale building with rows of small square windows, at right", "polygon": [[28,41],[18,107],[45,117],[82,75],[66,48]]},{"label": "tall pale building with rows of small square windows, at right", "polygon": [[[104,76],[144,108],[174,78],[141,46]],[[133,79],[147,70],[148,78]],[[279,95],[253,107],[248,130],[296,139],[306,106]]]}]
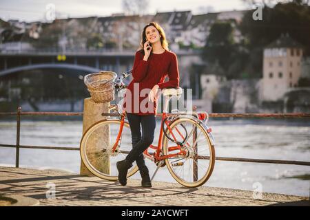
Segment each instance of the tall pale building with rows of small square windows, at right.
[{"label": "tall pale building with rows of small square windows, at right", "polygon": [[262,100],[282,100],[298,86],[301,76],[302,46],[288,34],[265,47],[263,54]]}]

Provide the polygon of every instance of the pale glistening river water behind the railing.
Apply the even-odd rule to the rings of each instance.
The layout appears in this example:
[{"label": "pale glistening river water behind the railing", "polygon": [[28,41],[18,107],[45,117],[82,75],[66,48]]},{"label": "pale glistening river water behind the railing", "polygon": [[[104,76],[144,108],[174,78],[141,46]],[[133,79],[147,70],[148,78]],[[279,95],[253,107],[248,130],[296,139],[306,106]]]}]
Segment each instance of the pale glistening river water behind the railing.
[{"label": "pale glistening river water behind the railing", "polygon": [[[79,147],[81,119],[21,121],[21,145]],[[214,120],[209,121],[216,140],[216,156],[310,161],[310,120]],[[156,133],[159,133],[159,121]],[[16,144],[16,121],[0,118],[0,143]],[[157,145],[158,137],[154,144]],[[21,149],[20,166],[54,168],[79,173],[79,151]],[[14,148],[0,147],[0,166],[14,166]],[[156,166],[148,161],[151,174]],[[138,179],[137,173],[132,178]],[[176,182],[167,168],[155,181]],[[217,161],[205,186],[276,192],[287,195],[310,194],[310,166]]]}]

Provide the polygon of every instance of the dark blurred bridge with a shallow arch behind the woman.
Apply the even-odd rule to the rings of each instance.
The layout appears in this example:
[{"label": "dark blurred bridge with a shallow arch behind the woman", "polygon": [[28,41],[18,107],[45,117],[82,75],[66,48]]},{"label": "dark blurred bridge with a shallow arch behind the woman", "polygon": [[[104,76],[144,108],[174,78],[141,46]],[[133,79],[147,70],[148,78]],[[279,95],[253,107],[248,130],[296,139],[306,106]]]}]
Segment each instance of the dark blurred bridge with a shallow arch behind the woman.
[{"label": "dark blurred bridge with a shallow arch behind the woman", "polygon": [[[90,73],[107,70],[119,73],[132,69],[134,54],[134,50],[68,50],[65,52],[57,50],[2,50],[0,51],[0,76],[44,68],[76,69]],[[199,56],[199,52],[188,51],[178,51],[176,54],[181,65],[180,60]],[[59,59],[59,55],[61,55],[61,59]],[[65,59],[62,59],[62,55],[65,55]]]}]

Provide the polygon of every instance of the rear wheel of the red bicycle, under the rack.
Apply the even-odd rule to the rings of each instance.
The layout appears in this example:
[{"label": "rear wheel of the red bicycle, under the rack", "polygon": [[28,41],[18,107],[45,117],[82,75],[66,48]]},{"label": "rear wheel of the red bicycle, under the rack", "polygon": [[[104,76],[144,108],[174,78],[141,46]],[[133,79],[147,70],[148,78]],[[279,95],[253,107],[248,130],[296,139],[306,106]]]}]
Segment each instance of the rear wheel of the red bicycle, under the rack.
[{"label": "rear wheel of the red bicycle, under the rack", "polygon": [[[192,118],[179,118],[169,125],[167,136],[172,140],[183,142],[186,155],[178,155],[165,159],[169,173],[172,177],[186,187],[198,187],[209,179],[214,169],[215,150],[210,137],[203,125]],[[176,143],[166,136],[163,139],[163,152],[165,155],[177,153]]]}]

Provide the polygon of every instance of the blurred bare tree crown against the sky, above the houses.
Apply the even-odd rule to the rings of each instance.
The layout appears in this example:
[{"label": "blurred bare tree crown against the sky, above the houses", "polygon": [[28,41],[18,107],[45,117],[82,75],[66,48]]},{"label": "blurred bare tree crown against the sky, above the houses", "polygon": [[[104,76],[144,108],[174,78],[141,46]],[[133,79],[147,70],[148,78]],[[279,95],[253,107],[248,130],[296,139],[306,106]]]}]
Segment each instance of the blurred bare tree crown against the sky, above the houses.
[{"label": "blurred bare tree crown against the sky, above the houses", "polygon": [[123,0],[122,8],[125,14],[143,15],[147,12],[149,1],[147,0]]}]

